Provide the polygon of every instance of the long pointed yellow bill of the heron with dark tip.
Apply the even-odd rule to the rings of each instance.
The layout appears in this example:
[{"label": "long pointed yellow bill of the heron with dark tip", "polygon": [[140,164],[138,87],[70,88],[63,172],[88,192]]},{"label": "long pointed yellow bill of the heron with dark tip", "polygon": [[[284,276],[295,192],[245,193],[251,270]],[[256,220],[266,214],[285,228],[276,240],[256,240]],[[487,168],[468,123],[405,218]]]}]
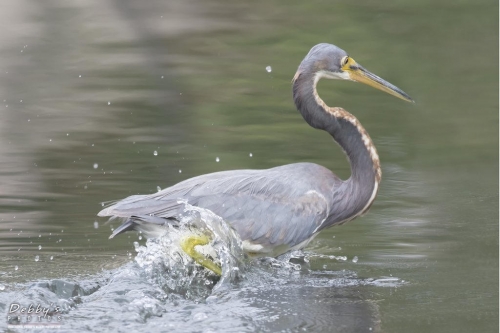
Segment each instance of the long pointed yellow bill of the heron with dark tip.
[{"label": "long pointed yellow bill of the heron with dark tip", "polygon": [[369,86],[372,86],[373,88],[385,91],[386,93],[401,98],[402,100],[405,100],[407,102],[415,103],[415,101],[403,90],[399,89],[393,84],[390,84],[377,75],[367,71],[365,68],[357,64],[352,58],[349,58],[347,64],[342,67],[342,70],[344,72],[347,72],[349,74],[349,77],[353,81],[367,84]]}]

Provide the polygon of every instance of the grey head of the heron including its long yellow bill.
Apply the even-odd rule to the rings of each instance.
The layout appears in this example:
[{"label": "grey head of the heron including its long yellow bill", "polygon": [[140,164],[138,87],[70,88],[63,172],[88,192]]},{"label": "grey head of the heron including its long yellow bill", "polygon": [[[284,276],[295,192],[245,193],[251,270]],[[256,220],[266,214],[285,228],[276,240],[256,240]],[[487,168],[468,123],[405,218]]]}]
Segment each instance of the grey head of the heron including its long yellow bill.
[{"label": "grey head of the heron including its long yellow bill", "polygon": [[311,73],[314,79],[340,79],[361,82],[414,103],[413,99],[403,90],[369,72],[351,58],[346,51],[327,43],[313,46],[302,60],[294,80],[302,72]]}]

